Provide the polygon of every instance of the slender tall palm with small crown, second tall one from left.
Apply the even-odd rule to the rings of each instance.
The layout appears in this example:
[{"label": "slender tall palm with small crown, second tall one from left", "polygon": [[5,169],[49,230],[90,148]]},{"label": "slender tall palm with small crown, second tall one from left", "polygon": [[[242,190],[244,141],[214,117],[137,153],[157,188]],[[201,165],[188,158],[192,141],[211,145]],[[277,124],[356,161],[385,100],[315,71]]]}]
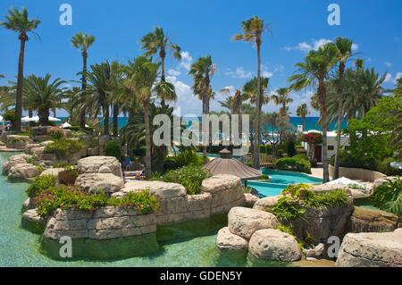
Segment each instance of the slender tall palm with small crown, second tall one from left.
[{"label": "slender tall palm with small crown, second tall one from left", "polygon": [[[88,49],[95,42],[95,37],[84,33],[77,33],[71,38],[71,44],[73,47],[80,49],[82,55],[82,72],[81,72],[81,88],[85,95],[87,90],[87,60]],[[80,113],[80,128],[85,128],[85,114],[86,110],[82,109]]]}]

